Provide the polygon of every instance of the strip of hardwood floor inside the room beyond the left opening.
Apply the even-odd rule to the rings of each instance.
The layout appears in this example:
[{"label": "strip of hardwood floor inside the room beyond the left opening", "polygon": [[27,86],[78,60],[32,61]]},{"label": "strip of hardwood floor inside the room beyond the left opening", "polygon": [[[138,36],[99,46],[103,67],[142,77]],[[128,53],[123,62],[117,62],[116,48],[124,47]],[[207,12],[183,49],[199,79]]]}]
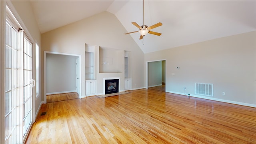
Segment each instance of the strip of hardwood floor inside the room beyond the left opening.
[{"label": "strip of hardwood floor inside the room beyond the left opening", "polygon": [[70,92],[65,94],[51,94],[46,96],[46,102],[58,102],[63,100],[72,100],[79,98],[79,94],[76,92]]}]

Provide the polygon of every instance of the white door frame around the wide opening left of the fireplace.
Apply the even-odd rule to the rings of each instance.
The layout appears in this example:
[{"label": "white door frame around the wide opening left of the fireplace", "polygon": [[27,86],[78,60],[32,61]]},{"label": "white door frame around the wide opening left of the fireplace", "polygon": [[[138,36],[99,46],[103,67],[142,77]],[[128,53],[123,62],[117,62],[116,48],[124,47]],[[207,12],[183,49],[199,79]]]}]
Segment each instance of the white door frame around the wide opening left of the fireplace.
[{"label": "white door frame around the wide opening left of the fireplace", "polygon": [[68,54],[68,53],[62,53],[62,52],[49,52],[44,51],[44,104],[46,104],[46,54],[61,54],[61,55],[67,55],[67,56],[78,56],[79,58],[79,98],[81,98],[81,55],[78,54]]}]

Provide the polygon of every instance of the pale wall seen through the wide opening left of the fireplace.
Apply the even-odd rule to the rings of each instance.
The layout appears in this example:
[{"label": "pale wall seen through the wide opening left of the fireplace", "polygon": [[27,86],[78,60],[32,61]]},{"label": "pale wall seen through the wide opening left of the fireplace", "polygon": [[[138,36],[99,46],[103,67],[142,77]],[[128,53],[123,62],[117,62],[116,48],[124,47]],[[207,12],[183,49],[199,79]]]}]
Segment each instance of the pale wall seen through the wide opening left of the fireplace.
[{"label": "pale wall seen through the wide opening left of the fireplace", "polygon": [[46,54],[46,94],[76,92],[78,56]]}]

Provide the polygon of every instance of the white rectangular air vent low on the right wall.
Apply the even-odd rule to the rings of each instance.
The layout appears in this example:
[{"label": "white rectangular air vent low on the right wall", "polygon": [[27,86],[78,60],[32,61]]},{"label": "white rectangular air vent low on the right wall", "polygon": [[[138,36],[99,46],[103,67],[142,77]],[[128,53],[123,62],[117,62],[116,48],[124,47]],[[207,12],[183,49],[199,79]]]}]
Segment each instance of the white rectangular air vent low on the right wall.
[{"label": "white rectangular air vent low on the right wall", "polygon": [[196,83],[196,94],[213,96],[213,84]]}]

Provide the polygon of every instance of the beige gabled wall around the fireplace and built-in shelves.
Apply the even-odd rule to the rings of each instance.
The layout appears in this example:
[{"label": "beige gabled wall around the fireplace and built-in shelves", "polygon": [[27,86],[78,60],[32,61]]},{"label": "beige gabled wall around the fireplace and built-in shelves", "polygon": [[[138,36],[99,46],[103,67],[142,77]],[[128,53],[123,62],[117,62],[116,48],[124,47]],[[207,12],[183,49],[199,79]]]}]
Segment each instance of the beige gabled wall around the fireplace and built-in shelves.
[{"label": "beige gabled wall around the fireplace and built-in shelves", "polygon": [[[109,12],[102,12],[42,34],[42,52],[50,51],[81,55],[81,90],[83,97],[86,93],[85,44],[96,46],[96,63],[99,63],[99,47],[122,50],[123,53],[126,50],[129,52],[129,74],[132,78],[132,88],[144,88],[144,69],[142,67],[144,66],[144,53],[129,35],[124,35],[126,32],[116,16]],[[124,56],[122,61],[124,61],[123,59]],[[96,64],[96,72],[99,72],[99,64]],[[102,78],[104,77],[121,77],[124,79],[124,73],[96,74],[98,94],[102,93]],[[42,80],[44,80],[43,74]],[[121,84],[120,87],[124,89],[124,82],[121,82]]]}]

